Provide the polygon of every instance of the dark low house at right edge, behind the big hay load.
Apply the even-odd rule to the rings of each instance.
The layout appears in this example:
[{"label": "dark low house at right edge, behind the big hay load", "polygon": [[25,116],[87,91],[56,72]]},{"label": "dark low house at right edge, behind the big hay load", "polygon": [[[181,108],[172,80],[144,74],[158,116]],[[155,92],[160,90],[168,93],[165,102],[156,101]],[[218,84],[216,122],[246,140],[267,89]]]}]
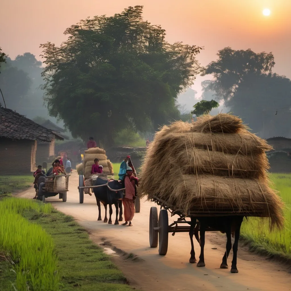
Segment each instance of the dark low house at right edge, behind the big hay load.
[{"label": "dark low house at right edge, behind the big hay load", "polygon": [[267,152],[272,173],[291,173],[291,139],[276,136],[267,139],[274,150]]}]

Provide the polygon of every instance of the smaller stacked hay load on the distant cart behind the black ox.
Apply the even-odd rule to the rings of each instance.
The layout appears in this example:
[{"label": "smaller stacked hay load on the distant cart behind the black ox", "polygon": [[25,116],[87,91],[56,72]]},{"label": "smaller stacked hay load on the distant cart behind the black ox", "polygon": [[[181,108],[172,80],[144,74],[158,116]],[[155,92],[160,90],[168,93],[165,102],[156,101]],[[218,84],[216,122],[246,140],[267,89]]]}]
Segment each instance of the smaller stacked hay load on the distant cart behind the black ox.
[{"label": "smaller stacked hay load on the distant cart behind the black ox", "polygon": [[99,159],[99,165],[103,167],[103,174],[113,175],[113,165],[107,159],[105,150],[101,148],[89,148],[85,150],[83,164],[76,166],[78,174],[80,175],[82,173],[85,179],[89,178],[91,176],[94,159],[96,158]]}]

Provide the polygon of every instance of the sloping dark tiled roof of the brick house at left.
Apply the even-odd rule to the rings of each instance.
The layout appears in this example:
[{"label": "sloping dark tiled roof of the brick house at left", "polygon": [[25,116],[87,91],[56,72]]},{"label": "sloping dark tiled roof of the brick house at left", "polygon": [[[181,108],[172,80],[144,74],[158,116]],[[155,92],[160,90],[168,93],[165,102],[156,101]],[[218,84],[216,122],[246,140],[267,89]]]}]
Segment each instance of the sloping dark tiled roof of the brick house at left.
[{"label": "sloping dark tiled roof of the brick house at left", "polygon": [[0,136],[9,139],[30,139],[40,142],[52,141],[56,136],[57,139],[63,140],[57,133],[53,133],[31,119],[4,107],[0,107]]}]

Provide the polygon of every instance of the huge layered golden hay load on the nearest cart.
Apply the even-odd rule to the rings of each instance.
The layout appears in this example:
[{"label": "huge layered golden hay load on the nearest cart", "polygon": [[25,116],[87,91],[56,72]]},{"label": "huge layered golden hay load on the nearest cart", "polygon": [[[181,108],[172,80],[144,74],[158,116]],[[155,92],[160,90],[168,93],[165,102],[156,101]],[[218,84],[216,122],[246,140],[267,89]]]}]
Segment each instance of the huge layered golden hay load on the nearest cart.
[{"label": "huge layered golden hay load on the nearest cart", "polygon": [[178,121],[156,133],[139,192],[185,215],[269,217],[283,226],[283,203],[269,187],[272,147],[230,114]]}]

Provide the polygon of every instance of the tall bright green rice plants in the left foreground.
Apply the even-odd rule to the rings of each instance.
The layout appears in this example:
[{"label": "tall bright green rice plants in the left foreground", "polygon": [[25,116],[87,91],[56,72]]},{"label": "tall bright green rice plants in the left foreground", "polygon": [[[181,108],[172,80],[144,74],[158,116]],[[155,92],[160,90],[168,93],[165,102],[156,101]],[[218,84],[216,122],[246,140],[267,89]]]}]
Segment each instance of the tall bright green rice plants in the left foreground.
[{"label": "tall bright green rice plants in the left foreground", "polygon": [[60,276],[55,244],[40,225],[29,223],[24,211],[48,215],[52,206],[24,198],[3,198],[0,201],[0,252],[13,261],[16,273],[15,290],[59,290]]}]

